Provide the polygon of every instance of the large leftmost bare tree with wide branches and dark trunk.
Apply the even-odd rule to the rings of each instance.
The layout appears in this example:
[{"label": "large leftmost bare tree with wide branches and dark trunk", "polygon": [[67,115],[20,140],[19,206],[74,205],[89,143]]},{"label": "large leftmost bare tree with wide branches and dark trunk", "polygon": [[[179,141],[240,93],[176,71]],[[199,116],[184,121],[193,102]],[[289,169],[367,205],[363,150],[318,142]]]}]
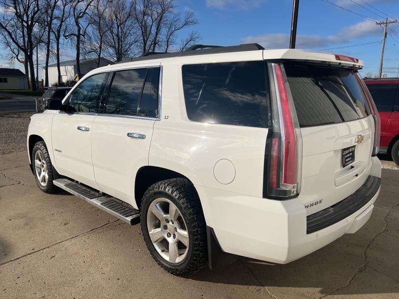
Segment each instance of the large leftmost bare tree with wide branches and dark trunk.
[{"label": "large leftmost bare tree with wide branches and dark trunk", "polygon": [[30,86],[32,90],[37,90],[33,50],[41,41],[37,36],[42,35],[42,32],[37,32],[38,26],[36,26],[40,16],[39,0],[1,0],[0,5],[2,7],[0,30],[3,31],[3,36],[15,45],[17,51],[23,53],[26,75],[28,75],[27,65],[30,73]]}]

